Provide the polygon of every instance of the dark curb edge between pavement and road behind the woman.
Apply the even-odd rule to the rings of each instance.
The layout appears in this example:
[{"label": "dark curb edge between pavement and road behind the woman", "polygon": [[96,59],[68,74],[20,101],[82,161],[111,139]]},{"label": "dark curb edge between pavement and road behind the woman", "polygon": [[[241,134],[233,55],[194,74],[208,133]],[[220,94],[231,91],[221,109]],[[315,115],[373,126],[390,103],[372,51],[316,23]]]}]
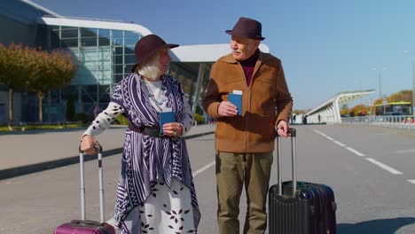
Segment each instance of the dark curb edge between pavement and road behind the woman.
[{"label": "dark curb edge between pavement and road behind the woman", "polygon": [[[214,131],[198,133],[198,134],[194,134],[190,136],[184,136],[184,139],[192,139],[195,137],[206,136],[206,135],[210,135],[213,133]],[[115,155],[121,152],[122,152],[122,148],[107,150],[107,151],[102,152],[102,157],[104,158],[104,157],[112,156],[112,155]],[[94,155],[91,157],[85,157],[84,161],[96,160],[97,158],[98,158],[97,155]],[[21,176],[21,175],[28,175],[28,174],[32,174],[35,172],[41,172],[41,171],[49,170],[53,168],[66,167],[66,166],[73,165],[76,163],[79,163],[79,155],[70,156],[65,159],[50,160],[50,161],[35,163],[32,165],[16,167],[16,168],[7,168],[7,169],[0,170],[0,180],[10,179],[10,178]]]}]

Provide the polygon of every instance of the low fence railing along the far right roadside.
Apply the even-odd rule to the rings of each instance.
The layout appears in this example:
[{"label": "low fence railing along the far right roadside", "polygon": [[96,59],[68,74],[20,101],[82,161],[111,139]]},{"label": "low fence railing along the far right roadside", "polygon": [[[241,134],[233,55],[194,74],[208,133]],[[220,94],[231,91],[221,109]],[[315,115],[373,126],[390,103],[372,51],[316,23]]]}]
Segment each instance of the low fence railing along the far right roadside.
[{"label": "low fence railing along the far right roadside", "polygon": [[414,115],[342,117],[341,123],[395,129],[415,129]]}]

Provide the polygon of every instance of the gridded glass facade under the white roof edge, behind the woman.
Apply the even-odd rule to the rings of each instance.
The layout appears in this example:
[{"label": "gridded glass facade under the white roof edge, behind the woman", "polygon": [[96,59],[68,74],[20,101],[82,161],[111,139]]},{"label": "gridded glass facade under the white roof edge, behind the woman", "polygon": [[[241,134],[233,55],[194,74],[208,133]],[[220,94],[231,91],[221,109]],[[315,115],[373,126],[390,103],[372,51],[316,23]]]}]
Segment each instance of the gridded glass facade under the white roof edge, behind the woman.
[{"label": "gridded glass facade under the white roof edge, behind the woman", "polygon": [[[48,51],[70,51],[78,63],[71,86],[51,91],[51,101],[45,104],[45,120],[65,119],[55,116],[65,113],[59,110],[66,106],[70,96],[75,99],[77,113],[92,116],[94,105],[105,108],[115,82],[129,74],[136,58],[134,46],[143,35],[137,32],[92,27],[66,27],[41,25],[38,27],[37,45]],[[59,96],[59,97],[57,97]],[[59,103],[63,100],[65,103]],[[54,112],[53,110],[59,110]]]}]

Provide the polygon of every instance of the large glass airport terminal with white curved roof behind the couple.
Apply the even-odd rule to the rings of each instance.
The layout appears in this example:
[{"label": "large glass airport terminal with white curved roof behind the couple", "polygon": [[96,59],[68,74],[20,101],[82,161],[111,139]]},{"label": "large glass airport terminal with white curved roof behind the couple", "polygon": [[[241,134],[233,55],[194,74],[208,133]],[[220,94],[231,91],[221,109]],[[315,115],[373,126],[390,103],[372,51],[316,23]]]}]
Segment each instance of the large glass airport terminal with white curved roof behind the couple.
[{"label": "large glass airport terminal with white curved roof behind the couple", "polygon": [[[68,98],[74,98],[76,113],[92,114],[97,104],[105,108],[114,83],[129,74],[136,61],[137,40],[152,34],[132,22],[64,17],[29,0],[1,1],[0,29],[4,32],[0,43],[40,46],[45,51],[67,50],[78,62],[71,85],[51,90],[43,99],[45,122],[66,121]],[[265,44],[260,49],[270,51]],[[193,110],[200,105],[200,94],[207,85],[213,62],[229,52],[226,43],[182,45],[171,50],[169,74],[182,83]],[[37,121],[34,93],[15,91],[13,99],[15,122]],[[0,85],[0,124],[8,121],[8,105],[7,87]]]}]

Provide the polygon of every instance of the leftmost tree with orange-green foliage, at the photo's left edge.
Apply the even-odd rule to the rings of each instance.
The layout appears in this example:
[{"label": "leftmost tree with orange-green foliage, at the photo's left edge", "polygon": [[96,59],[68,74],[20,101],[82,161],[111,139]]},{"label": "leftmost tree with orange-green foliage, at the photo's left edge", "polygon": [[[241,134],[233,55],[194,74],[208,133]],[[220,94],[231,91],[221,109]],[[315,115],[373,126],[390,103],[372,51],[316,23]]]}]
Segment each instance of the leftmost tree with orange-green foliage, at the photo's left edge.
[{"label": "leftmost tree with orange-green foliage, at the photo's left edge", "polygon": [[30,72],[27,66],[29,50],[21,44],[11,43],[4,46],[0,43],[0,83],[9,90],[9,128],[13,125],[13,91],[25,87],[25,80]]}]

